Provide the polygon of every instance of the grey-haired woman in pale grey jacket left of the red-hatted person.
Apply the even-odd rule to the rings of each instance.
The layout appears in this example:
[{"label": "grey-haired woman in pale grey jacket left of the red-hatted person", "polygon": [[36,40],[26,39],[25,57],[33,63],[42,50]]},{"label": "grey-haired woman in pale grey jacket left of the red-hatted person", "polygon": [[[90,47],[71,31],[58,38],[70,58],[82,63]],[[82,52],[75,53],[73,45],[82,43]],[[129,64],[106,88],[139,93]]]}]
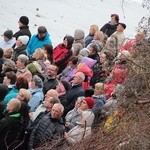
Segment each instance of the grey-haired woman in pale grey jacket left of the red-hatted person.
[{"label": "grey-haired woman in pale grey jacket left of the red-hatted person", "polygon": [[77,98],[77,101],[75,103],[75,107],[74,109],[72,109],[71,111],[69,111],[65,117],[66,119],[66,128],[68,130],[72,129],[74,126],[77,125],[77,121],[80,120],[81,117],[81,111],[78,109],[81,106],[81,103],[83,101],[85,97],[84,96],[80,96]]}]

